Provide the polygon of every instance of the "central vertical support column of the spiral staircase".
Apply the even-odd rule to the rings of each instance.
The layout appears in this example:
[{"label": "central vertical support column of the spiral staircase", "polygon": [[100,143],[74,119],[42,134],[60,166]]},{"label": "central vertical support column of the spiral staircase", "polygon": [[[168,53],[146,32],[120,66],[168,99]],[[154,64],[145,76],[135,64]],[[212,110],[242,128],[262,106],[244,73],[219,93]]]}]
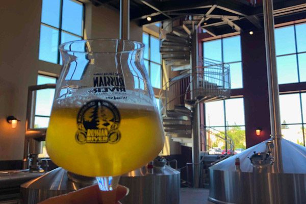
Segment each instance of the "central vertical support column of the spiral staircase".
[{"label": "central vertical support column of the spiral staircase", "polygon": [[[198,67],[198,38],[197,29],[192,34],[191,48],[192,74],[191,77],[191,99],[195,99],[195,90],[197,84],[197,67]],[[193,163],[193,188],[199,188],[200,181],[200,105],[196,102],[192,110],[192,163]]]}]

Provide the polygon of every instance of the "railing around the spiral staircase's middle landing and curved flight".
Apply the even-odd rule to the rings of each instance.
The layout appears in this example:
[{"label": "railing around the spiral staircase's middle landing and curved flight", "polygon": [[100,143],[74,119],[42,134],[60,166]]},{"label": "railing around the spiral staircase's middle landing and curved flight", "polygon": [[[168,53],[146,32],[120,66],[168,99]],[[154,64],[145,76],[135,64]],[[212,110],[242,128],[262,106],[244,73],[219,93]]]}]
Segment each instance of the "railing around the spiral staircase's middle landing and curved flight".
[{"label": "railing around the spiral staircase's middle landing and curved flight", "polygon": [[[194,100],[194,104],[202,103],[201,99],[222,98],[230,96],[230,68],[227,64],[201,58],[200,63],[206,66],[198,66],[193,73],[189,69],[181,72],[166,82],[160,90],[160,99],[162,99],[162,111],[169,109],[169,105],[175,100]],[[191,84],[197,84],[193,89],[190,89]],[[184,88],[184,91],[182,91]],[[190,98],[190,94],[195,98]],[[172,96],[169,96],[172,94]],[[184,98],[182,98],[184,96]],[[197,98],[200,96],[201,98]],[[198,99],[198,100],[195,100]],[[170,107],[173,108],[173,107]],[[163,112],[165,113],[165,112]]]}]

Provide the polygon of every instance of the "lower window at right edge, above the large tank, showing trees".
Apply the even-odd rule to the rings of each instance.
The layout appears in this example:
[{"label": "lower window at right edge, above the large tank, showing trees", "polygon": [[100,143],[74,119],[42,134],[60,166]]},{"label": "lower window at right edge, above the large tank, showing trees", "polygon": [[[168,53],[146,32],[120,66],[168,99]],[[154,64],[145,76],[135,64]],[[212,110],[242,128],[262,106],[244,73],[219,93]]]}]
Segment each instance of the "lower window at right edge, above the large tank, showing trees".
[{"label": "lower window at right edge, above the large tank, showing trees", "polygon": [[279,105],[283,137],[305,146],[306,93],[282,94]]}]

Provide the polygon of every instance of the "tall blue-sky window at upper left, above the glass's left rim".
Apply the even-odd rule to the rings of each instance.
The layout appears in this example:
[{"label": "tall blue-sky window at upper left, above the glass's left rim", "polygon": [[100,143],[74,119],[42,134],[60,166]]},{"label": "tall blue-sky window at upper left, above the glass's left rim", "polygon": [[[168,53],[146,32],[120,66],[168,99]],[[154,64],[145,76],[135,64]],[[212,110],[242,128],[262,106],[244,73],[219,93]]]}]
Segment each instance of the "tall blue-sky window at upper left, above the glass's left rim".
[{"label": "tall blue-sky window at upper left, above the glass's left rim", "polygon": [[58,46],[83,37],[84,5],[75,0],[42,0],[39,60],[60,64]]}]

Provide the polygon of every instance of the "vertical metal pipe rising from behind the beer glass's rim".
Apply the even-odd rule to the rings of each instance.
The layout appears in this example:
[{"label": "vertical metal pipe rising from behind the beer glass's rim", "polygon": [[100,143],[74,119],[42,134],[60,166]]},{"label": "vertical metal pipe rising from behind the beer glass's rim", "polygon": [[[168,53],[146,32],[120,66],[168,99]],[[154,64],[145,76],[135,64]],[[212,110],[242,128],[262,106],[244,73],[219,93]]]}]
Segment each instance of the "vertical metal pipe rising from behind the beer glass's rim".
[{"label": "vertical metal pipe rising from behind the beer glass's rim", "polygon": [[120,0],[120,30],[119,38],[130,39],[130,0]]}]

